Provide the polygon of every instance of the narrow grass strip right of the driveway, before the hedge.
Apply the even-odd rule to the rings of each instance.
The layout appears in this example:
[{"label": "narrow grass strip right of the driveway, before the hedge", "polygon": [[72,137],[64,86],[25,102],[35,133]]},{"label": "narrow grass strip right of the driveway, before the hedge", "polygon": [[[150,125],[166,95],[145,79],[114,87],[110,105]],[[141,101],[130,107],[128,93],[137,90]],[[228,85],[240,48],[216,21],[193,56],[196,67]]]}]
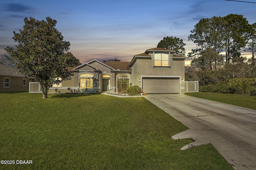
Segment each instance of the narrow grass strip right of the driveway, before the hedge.
[{"label": "narrow grass strip right of the driveway, before the hedge", "polygon": [[186,95],[256,110],[256,96],[205,92],[186,93]]}]

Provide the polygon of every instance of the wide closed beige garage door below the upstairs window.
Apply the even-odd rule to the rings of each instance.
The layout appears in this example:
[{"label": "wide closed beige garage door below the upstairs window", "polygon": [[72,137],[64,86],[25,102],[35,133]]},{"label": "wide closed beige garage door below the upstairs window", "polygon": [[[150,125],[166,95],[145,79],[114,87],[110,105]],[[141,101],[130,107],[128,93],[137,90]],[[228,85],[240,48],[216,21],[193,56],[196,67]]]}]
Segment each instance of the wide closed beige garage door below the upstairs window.
[{"label": "wide closed beige garage door below the upstairs window", "polygon": [[180,93],[179,79],[142,78],[142,90],[148,94]]}]

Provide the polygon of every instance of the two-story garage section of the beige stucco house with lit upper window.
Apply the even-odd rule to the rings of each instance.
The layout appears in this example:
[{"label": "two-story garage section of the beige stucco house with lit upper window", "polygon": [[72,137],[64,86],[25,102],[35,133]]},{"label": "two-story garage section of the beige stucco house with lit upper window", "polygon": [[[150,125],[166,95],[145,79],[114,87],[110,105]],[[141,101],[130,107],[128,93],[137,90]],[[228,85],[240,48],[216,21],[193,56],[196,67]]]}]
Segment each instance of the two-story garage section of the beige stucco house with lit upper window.
[{"label": "two-story garage section of the beige stucco house with lit upper window", "polygon": [[153,48],[134,55],[132,83],[148,94],[184,94],[185,59],[174,55],[174,50]]}]

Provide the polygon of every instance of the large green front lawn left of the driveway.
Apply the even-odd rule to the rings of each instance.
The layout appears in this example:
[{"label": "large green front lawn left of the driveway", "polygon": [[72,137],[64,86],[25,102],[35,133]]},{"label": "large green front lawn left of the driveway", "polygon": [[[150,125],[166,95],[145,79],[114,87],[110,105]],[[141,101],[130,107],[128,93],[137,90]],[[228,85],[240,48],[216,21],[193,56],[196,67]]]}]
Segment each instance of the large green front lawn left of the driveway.
[{"label": "large green front lawn left of the driveway", "polygon": [[180,150],[187,129],[145,98],[0,93],[0,169],[189,169],[232,166],[211,145]]}]

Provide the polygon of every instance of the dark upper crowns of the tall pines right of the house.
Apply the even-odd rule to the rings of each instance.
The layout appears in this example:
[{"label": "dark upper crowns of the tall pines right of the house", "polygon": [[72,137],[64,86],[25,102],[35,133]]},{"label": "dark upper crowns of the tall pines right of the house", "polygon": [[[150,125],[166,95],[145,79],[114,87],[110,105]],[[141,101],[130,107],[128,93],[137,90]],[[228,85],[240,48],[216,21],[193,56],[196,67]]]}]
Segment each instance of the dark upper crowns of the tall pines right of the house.
[{"label": "dark upper crowns of the tall pines right of the house", "polygon": [[194,41],[199,49],[192,49],[189,57],[198,57],[205,49],[219,53],[225,51],[226,63],[240,57],[248,43],[249,25],[242,15],[229,14],[224,17],[203,18],[190,31],[188,40]]}]

